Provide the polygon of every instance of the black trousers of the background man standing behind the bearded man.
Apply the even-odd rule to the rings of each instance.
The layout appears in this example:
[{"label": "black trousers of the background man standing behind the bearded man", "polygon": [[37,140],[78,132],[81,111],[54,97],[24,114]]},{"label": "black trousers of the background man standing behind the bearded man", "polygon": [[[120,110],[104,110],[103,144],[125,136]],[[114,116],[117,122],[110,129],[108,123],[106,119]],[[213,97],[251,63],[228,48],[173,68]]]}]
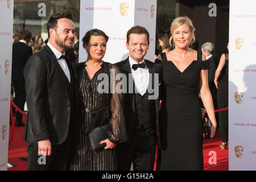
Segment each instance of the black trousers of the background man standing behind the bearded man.
[{"label": "black trousers of the background man standing behind the bearded man", "polygon": [[[24,104],[26,102],[26,90],[24,81],[13,80],[15,97],[13,98],[14,104],[19,107],[20,110],[24,111]],[[16,122],[22,122],[22,114],[17,111]]]}]

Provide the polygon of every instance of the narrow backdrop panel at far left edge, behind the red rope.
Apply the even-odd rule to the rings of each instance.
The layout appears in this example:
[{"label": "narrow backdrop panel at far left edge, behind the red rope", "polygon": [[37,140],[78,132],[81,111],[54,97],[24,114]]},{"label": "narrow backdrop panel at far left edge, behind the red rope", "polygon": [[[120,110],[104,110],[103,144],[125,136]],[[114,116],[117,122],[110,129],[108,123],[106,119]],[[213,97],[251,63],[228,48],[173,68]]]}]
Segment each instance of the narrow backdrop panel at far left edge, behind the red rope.
[{"label": "narrow backdrop panel at far left edge, behind the red rope", "polygon": [[13,0],[0,0],[0,171],[7,170],[9,143]]}]

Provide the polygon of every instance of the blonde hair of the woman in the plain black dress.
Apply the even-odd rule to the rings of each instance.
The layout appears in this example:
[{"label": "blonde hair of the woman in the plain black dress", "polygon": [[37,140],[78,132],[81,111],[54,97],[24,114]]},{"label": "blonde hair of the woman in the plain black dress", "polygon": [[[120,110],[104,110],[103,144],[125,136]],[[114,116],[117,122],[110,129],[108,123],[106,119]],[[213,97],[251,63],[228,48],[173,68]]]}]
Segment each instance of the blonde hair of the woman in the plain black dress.
[{"label": "blonde hair of the woman in the plain black dress", "polygon": [[[171,27],[170,27],[171,37],[169,39],[169,43],[170,43],[172,49],[175,48],[175,43],[174,43],[174,40],[172,38],[172,32],[174,32],[174,30],[177,27],[179,27],[183,24],[187,24],[187,26],[189,27],[191,32],[195,32],[195,30],[196,30],[196,28],[193,26],[193,23],[192,23],[191,19],[188,18],[188,16],[179,16],[179,17],[175,18],[174,21],[171,24]],[[190,42],[190,46],[192,46],[192,44],[195,43],[195,41],[196,41],[195,34],[193,34],[192,40]]]}]

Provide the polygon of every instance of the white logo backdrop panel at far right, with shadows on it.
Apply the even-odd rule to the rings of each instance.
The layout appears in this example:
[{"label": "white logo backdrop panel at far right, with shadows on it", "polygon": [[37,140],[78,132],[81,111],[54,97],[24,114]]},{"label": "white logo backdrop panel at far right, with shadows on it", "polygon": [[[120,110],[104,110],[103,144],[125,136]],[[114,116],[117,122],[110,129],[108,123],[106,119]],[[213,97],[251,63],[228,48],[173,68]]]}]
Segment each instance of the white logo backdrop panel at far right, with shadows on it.
[{"label": "white logo backdrop panel at far right, with shadows on it", "polygon": [[229,13],[229,170],[256,170],[256,1]]}]

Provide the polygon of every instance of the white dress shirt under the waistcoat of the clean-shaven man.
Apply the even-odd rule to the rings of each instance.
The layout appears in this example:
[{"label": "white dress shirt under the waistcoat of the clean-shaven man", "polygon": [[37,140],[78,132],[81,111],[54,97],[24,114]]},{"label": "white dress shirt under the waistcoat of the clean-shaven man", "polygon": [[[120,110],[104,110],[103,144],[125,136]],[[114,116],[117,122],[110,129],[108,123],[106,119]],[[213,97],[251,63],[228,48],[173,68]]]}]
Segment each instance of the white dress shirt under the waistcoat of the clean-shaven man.
[{"label": "white dress shirt under the waistcoat of the clean-shaven man", "polygon": [[[133,66],[133,64],[138,64],[136,61],[131,59],[130,56],[129,56],[129,62],[130,62],[130,68]],[[143,60],[141,61],[141,63],[145,63],[145,61]],[[149,77],[150,77],[147,66],[145,68],[138,68],[136,69],[136,71],[134,71],[134,69],[131,68],[131,74],[133,75],[135,88],[137,89],[138,93],[143,96],[144,93],[146,93],[147,91]]]}]

